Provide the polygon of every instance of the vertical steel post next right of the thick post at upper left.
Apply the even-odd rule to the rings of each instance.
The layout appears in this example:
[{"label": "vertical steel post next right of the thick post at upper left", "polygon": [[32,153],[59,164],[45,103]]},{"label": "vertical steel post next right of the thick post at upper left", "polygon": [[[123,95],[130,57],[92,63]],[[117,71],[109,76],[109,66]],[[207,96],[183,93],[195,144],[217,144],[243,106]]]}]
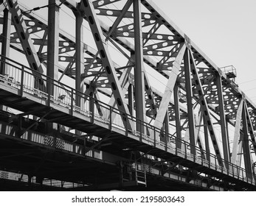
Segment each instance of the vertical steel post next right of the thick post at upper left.
[{"label": "vertical steel post next right of the thick post at upper left", "polygon": [[84,101],[81,94],[85,90],[81,74],[84,72],[84,51],[83,51],[83,16],[75,12],[75,89],[79,91],[75,97],[75,104],[83,110]]}]

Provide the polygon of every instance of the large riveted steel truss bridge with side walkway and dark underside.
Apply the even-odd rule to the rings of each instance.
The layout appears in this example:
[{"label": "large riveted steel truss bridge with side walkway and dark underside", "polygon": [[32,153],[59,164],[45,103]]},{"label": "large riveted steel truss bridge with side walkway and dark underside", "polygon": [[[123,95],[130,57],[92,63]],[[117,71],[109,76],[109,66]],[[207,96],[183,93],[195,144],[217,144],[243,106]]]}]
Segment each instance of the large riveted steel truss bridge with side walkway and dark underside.
[{"label": "large riveted steel truss bridge with side walkway and dark underside", "polygon": [[1,190],[256,190],[255,104],[153,1],[0,11]]}]

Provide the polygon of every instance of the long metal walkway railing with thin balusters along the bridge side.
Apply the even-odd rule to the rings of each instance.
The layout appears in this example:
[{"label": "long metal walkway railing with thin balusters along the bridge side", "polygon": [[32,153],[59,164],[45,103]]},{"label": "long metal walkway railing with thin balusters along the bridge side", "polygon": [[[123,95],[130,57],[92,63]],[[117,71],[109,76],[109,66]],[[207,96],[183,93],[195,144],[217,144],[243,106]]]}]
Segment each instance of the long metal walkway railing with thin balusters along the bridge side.
[{"label": "long metal walkway railing with thin balusters along the bridge side", "polygon": [[[219,171],[239,180],[255,184],[253,174],[246,172],[244,168],[225,160],[222,160],[224,166],[219,166],[215,154],[207,152],[198,146],[193,146],[196,148],[196,153],[192,154],[190,153],[190,143],[178,140],[175,136],[170,135],[162,129],[153,127],[153,125],[136,119],[133,116],[128,114],[123,116],[124,113],[117,110],[117,108],[100,102],[98,99],[94,99],[91,96],[86,96],[86,94],[69,87],[69,85],[58,82],[44,74],[32,71],[30,68],[14,60],[3,56],[0,57],[1,71],[5,71],[4,74],[0,74],[0,82],[4,82],[5,85],[18,89],[18,93],[21,96],[23,96],[24,93],[29,93],[32,96],[42,99],[48,106],[61,107],[61,110],[66,109],[70,114],[82,114],[83,116],[89,117],[92,122],[100,121],[103,124],[107,124],[109,129],[112,127],[122,129],[125,131],[126,135],[135,135],[139,138],[139,141],[143,143],[156,146],[166,152],[176,154],[179,157],[212,168],[215,171]],[[128,125],[125,125],[128,124],[129,121],[123,121],[124,118],[128,118],[134,126],[139,121],[140,128],[131,130]],[[126,123],[124,124],[124,122]]]}]

